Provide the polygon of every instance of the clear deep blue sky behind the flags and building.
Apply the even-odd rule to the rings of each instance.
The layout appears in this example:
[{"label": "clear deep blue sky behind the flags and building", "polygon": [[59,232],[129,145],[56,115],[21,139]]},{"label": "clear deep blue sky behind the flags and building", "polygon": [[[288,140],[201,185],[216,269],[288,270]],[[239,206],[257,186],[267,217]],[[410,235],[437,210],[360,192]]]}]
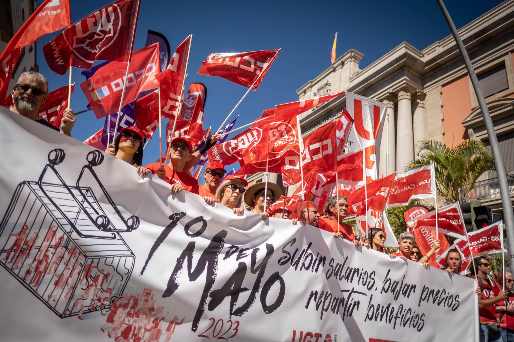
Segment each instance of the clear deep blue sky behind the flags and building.
[{"label": "clear deep blue sky behind the flags and building", "polygon": [[[42,0],[38,0],[38,5]],[[70,0],[71,22],[110,3],[105,0]],[[446,1],[455,26],[460,28],[500,1]],[[208,89],[204,127],[219,127],[247,88],[222,78],[196,72],[207,55],[213,52],[241,52],[282,48],[261,86],[251,91],[234,115],[236,126],[250,123],[262,110],[276,104],[298,101],[296,90],[330,66],[334,35],[338,31],[336,58],[349,49],[364,54],[364,68],[405,41],[422,50],[450,34],[435,1],[182,1],[141,0],[134,50],[146,41],[147,30],[166,35],[172,53],[193,34],[189,60],[191,82],[203,82]],[[68,82],[68,75],[48,69],[42,46],[57,33],[43,36],[37,43],[40,72],[46,75],[50,90]],[[85,109],[87,101],[78,86],[85,79],[74,68],[72,82],[77,84],[71,108]],[[85,140],[103,125],[94,113],[77,116],[72,137]],[[166,120],[163,120],[163,125]],[[164,132],[164,129],[163,129]],[[164,133],[163,133],[164,134]],[[143,165],[158,158],[158,135],[144,151]],[[200,184],[202,182],[200,181]]]}]

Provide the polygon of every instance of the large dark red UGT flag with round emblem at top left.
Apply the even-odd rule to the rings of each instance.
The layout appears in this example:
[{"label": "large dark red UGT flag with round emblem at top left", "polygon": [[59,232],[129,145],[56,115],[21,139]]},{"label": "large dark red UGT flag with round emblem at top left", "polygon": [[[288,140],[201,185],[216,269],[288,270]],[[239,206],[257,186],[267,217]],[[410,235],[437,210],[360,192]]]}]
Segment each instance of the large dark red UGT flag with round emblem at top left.
[{"label": "large dark red UGT flag with round emblem at top left", "polygon": [[89,14],[43,46],[48,67],[62,75],[70,64],[90,69],[96,60],[127,62],[138,11],[139,0],[119,0]]}]

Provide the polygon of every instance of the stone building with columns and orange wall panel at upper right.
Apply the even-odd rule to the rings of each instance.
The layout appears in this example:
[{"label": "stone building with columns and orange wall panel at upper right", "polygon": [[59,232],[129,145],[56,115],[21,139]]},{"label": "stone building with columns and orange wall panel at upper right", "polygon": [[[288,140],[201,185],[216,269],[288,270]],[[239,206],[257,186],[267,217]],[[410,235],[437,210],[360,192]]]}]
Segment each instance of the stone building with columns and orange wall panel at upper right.
[{"label": "stone building with columns and orange wall panel at upper right", "polygon": [[[491,112],[508,173],[514,174],[514,1],[484,13],[459,33]],[[478,101],[451,35],[421,51],[403,42],[360,69],[362,57],[359,51],[348,50],[297,93],[303,100],[345,90],[387,103],[379,175],[401,172],[414,159],[416,143],[423,139],[447,146],[468,139],[489,143]],[[303,113],[303,135],[339,116],[345,101],[337,98]],[[488,172],[481,179],[471,199],[500,209],[495,173]],[[252,175],[249,180],[264,180],[264,175]],[[271,174],[269,180],[281,183],[280,175]],[[514,199],[514,181],[509,182]]]}]

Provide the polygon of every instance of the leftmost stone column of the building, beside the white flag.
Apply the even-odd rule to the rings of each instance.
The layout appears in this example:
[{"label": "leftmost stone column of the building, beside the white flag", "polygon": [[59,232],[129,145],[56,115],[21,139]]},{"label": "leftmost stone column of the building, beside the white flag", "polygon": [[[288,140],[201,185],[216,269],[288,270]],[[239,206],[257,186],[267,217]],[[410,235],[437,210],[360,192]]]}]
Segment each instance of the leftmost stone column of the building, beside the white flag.
[{"label": "leftmost stone column of the building, beside the white flag", "polygon": [[[382,128],[382,140],[380,141],[379,176],[390,175],[396,170],[395,127],[394,127],[394,98],[387,97],[382,103],[387,104],[386,120]],[[389,134],[389,137],[388,137]]]}]

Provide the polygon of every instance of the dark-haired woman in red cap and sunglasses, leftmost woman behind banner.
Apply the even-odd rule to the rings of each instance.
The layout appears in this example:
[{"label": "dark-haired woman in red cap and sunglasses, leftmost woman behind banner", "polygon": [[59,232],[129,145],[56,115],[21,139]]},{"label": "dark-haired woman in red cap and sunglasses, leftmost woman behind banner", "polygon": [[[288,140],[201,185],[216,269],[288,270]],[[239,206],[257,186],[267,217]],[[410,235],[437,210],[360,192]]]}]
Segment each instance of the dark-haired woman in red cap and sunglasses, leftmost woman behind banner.
[{"label": "dark-haired woman in red cap and sunglasses, leftmost woman behind banner", "polygon": [[109,144],[105,153],[135,166],[140,176],[146,176],[152,172],[148,168],[141,167],[143,162],[143,132],[136,126],[122,128],[114,144]]}]

